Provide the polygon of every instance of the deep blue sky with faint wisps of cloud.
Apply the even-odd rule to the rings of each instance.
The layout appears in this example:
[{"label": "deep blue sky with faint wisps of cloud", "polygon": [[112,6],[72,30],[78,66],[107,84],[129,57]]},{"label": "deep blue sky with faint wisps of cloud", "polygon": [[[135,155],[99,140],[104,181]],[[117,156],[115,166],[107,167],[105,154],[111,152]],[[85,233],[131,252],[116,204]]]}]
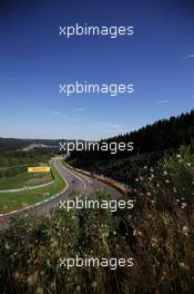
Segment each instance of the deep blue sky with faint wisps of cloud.
[{"label": "deep blue sky with faint wisps of cloud", "polygon": [[[75,22],[134,26],[134,36],[59,36]],[[76,80],[129,81],[134,94],[59,94]],[[193,106],[193,1],[0,1],[0,137],[99,139]]]}]

